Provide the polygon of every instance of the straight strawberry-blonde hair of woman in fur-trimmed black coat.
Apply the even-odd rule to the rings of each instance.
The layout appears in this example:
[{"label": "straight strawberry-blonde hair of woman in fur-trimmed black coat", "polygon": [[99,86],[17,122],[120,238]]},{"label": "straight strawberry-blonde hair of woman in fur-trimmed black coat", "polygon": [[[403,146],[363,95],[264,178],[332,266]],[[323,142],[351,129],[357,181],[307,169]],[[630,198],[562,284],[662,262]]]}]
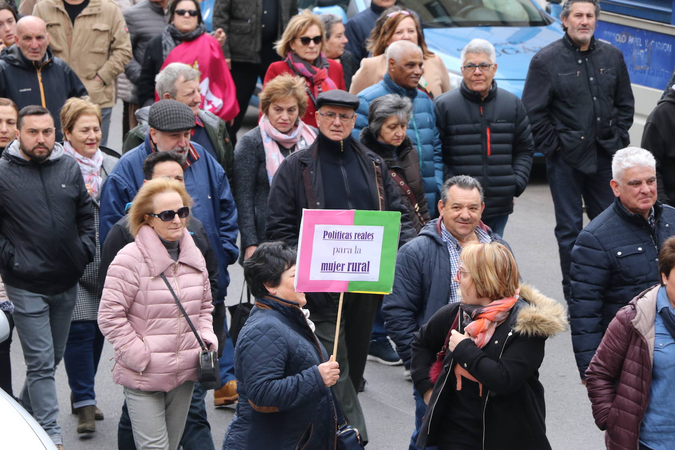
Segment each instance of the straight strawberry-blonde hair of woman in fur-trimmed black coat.
[{"label": "straight strawberry-blonde hair of woman in fur-trimmed black coat", "polygon": [[470,273],[478,298],[499,300],[516,294],[518,266],[508,248],[499,242],[472,242],[464,246],[462,269]]}]

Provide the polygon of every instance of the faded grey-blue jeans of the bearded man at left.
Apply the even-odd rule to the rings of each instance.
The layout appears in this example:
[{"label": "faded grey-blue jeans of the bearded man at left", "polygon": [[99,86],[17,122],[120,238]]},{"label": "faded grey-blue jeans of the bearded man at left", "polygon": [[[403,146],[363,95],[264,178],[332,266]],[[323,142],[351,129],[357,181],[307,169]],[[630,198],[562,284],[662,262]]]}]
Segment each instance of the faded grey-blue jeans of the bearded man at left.
[{"label": "faded grey-blue jeans of the bearded man at left", "polygon": [[14,326],[26,362],[20,403],[56,445],[63,444],[61,426],[57,423],[59,401],[54,374],[65,352],[78,286],[53,296],[6,287],[7,297],[14,303]]}]

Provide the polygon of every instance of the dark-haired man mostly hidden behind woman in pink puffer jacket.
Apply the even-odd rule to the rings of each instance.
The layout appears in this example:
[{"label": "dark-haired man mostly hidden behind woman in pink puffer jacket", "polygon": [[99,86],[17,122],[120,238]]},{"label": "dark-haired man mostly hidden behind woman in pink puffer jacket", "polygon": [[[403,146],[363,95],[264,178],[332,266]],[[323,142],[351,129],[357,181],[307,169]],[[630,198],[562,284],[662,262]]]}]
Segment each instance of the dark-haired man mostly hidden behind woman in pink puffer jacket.
[{"label": "dark-haired man mostly hidden behind woman in pink puffer jacket", "polygon": [[[176,152],[155,152],[151,153],[143,161],[143,183],[148,180],[166,177],[185,183],[184,172],[182,167],[182,157]],[[128,204],[127,206],[131,206]],[[183,208],[181,208],[183,209]],[[187,213],[185,210],[162,211],[159,219],[165,221],[173,220],[173,216],[178,214],[181,217]],[[188,231],[192,235],[194,244],[202,252],[207,263],[207,271],[209,271],[209,281],[211,282],[211,293],[213,298],[217,298],[218,293],[218,260],[209,241],[209,236],[202,225],[201,221],[194,217],[192,210],[188,213],[190,220],[188,221]],[[134,242],[134,237],[128,229],[129,219],[124,216],[113,225],[110,229],[105,242],[101,248],[101,264],[99,265],[99,289],[103,290],[103,283],[107,275],[108,266],[126,244]],[[225,323],[225,304],[216,303],[213,312],[213,331],[218,337],[218,352],[221,354],[227,351],[223,348],[223,326]],[[232,351],[232,345],[229,345]],[[231,374],[231,380],[234,380],[234,373]],[[236,382],[235,382],[236,383]],[[204,402],[206,392],[201,389],[198,383],[195,384],[195,390],[192,395],[192,402],[190,403],[190,411],[185,424],[185,430],[181,439],[181,445],[185,450],[201,450],[213,448],[213,438],[211,437],[211,429],[207,420],[207,412]],[[131,420],[126,407],[126,402],[122,405],[122,413],[119,418],[119,425],[117,426],[117,446],[119,449],[134,450],[134,436],[132,434]]]}]

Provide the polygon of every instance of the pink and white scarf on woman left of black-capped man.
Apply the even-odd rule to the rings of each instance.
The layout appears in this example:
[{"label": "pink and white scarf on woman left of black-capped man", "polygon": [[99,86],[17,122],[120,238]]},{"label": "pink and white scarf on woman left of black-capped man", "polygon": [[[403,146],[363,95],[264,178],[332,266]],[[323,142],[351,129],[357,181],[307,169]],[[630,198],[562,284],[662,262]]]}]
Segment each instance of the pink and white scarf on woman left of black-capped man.
[{"label": "pink and white scarf on woman left of black-capped man", "polygon": [[284,161],[284,155],[279,150],[279,144],[284,148],[296,146],[296,150],[311,146],[317,138],[317,134],[309,128],[304,122],[298,119],[296,125],[288,132],[282,133],[273,127],[267,116],[263,114],[258,122],[260,134],[263,137],[263,148],[265,149],[265,169],[267,169],[267,179],[272,183],[272,177],[277,173],[281,161]]}]

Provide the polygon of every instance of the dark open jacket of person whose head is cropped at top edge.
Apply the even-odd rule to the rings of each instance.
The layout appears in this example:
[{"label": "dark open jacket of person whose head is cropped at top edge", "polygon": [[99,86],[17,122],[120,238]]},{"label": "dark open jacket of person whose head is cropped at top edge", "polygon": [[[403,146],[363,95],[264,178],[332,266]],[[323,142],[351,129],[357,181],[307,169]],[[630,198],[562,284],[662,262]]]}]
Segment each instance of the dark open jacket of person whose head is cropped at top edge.
[{"label": "dark open jacket of person whose head is cropped at top edge", "polygon": [[[292,16],[298,13],[298,0],[277,3],[277,39]],[[241,63],[261,63],[263,48],[263,0],[216,0],[213,6],[213,29],[223,28],[227,40],[225,58]]]}]

